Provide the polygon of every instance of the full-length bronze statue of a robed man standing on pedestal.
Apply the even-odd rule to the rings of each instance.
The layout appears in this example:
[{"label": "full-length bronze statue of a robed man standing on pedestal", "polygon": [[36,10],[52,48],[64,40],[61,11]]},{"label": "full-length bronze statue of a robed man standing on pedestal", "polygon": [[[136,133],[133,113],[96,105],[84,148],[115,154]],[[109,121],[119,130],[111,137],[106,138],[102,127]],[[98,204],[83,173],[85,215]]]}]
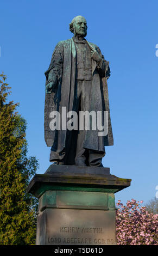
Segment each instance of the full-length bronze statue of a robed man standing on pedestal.
[{"label": "full-length bronze statue of a robed man standing on pedestal", "polygon": [[[73,38],[58,42],[45,72],[45,141],[51,147],[50,162],[101,167],[105,146],[113,145],[107,87],[109,62],[97,45],[85,39],[87,22],[83,16],[74,17],[69,30]],[[107,111],[108,134],[98,136],[97,128],[50,129],[52,111],[65,114],[62,118],[67,118],[69,111]]]}]

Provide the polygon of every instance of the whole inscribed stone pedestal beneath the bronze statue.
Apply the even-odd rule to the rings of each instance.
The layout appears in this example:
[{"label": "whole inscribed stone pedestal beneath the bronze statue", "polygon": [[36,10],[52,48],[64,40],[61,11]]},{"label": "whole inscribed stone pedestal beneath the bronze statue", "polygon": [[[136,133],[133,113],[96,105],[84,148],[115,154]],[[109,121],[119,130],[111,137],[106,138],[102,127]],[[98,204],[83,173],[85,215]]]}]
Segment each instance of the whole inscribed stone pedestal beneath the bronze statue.
[{"label": "whole inscribed stone pedestal beneath the bronze statue", "polygon": [[36,245],[115,245],[115,193],[130,179],[109,168],[54,166],[27,192],[39,198]]}]

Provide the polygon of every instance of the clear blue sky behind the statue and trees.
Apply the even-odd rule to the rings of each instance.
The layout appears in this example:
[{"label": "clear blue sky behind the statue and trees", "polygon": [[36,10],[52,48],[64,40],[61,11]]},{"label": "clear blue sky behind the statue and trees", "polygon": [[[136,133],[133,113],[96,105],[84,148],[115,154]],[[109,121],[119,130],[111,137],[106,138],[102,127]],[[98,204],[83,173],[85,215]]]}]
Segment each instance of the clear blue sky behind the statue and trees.
[{"label": "clear blue sky behind the statue and trees", "polygon": [[86,39],[97,44],[110,62],[108,80],[114,145],[106,147],[104,167],[132,179],[116,194],[146,203],[158,185],[158,2],[133,1],[1,1],[0,72],[8,77],[18,112],[26,118],[29,156],[49,167],[44,141],[45,75],[55,45],[72,37],[69,23],[87,20]]}]

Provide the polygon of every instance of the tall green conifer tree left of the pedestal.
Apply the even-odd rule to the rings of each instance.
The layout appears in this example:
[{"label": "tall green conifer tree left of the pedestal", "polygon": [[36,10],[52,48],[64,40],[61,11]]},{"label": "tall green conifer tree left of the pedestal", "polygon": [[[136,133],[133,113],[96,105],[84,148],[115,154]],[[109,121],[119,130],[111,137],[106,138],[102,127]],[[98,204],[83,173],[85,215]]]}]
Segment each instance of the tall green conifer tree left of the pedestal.
[{"label": "tall green conifer tree left of the pedestal", "polygon": [[0,75],[0,245],[33,245],[36,232],[36,199],[26,193],[38,167],[27,158],[26,120],[15,112],[5,76]]}]

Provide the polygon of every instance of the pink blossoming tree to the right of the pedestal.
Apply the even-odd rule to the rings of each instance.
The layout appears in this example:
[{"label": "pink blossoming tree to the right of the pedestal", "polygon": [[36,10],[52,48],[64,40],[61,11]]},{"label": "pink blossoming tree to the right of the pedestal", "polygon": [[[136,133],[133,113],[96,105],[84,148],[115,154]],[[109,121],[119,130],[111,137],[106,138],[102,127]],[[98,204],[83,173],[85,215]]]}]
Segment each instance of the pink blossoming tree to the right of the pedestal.
[{"label": "pink blossoming tree to the right of the pedestal", "polygon": [[158,245],[158,214],[149,214],[142,203],[131,199],[125,206],[118,200],[117,245]]}]

